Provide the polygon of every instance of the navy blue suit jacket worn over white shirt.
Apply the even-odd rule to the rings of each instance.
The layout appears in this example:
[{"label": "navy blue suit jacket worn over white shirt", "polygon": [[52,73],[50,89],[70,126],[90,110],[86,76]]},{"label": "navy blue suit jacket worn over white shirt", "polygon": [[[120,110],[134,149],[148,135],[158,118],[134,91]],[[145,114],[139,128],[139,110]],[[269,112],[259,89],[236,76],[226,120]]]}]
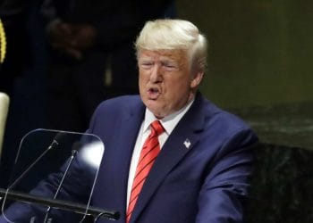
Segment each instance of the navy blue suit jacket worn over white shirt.
[{"label": "navy blue suit jacket worn over white shirt", "polygon": [[[91,204],[120,211],[116,222],[125,222],[131,153],[144,113],[140,96],[123,96],[101,103],[90,122],[88,132],[106,147]],[[257,140],[242,120],[198,94],[157,156],[131,223],[241,222]],[[83,193],[82,186],[71,190]]]}]

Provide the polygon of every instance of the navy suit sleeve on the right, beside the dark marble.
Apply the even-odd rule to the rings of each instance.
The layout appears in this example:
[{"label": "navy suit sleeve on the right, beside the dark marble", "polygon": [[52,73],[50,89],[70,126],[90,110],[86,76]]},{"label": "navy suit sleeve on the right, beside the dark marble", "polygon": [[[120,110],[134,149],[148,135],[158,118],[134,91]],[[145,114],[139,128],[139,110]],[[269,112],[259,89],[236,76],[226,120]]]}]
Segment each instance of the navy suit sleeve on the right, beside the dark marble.
[{"label": "navy suit sleeve on the right, beside the dark marble", "polygon": [[199,193],[197,223],[242,222],[257,141],[243,129],[222,145]]}]

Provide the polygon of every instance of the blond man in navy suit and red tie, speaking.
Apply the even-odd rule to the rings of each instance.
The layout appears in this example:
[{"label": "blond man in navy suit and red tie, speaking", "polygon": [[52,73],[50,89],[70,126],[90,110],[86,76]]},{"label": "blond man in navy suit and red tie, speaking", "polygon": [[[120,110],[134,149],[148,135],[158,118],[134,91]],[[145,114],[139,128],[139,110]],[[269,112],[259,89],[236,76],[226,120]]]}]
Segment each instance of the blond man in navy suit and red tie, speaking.
[{"label": "blond man in navy suit and red tie, speaking", "polygon": [[[114,98],[95,111],[88,132],[106,152],[91,204],[120,211],[116,222],[242,221],[257,136],[200,95],[206,47],[189,21],[148,21],[136,41],[140,96]],[[139,170],[150,151],[156,153]]]}]

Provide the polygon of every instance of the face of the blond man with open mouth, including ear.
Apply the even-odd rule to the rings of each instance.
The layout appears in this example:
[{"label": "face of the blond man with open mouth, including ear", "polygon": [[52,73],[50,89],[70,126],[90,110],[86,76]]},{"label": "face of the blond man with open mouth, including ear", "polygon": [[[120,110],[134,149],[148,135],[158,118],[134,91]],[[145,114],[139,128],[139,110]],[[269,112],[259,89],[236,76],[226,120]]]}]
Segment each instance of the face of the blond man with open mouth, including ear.
[{"label": "face of the blond man with open mouth, including ear", "polygon": [[203,73],[191,73],[183,50],[141,50],[140,96],[159,119],[182,109],[194,96]]}]

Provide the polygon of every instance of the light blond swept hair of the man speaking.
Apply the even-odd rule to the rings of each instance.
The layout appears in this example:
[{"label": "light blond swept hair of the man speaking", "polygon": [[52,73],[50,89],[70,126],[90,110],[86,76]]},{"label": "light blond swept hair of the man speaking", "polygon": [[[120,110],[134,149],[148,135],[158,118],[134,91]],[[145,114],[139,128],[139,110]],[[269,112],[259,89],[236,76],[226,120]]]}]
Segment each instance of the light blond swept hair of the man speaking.
[{"label": "light blond swept hair of the man speaking", "polygon": [[140,50],[186,50],[192,66],[199,70],[207,67],[207,39],[190,21],[156,20],[147,21],[137,37],[135,47]]}]

